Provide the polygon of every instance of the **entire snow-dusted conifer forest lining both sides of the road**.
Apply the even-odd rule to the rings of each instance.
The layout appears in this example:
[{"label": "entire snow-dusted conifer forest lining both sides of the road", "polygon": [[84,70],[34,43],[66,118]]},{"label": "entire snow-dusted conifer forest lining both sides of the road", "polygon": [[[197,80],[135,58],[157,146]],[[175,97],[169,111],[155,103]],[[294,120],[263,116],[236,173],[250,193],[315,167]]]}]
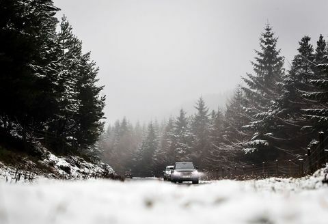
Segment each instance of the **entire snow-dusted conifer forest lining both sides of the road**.
[{"label": "entire snow-dusted conifer forest lining both sides of the road", "polygon": [[226,107],[209,111],[199,98],[195,114],[181,109],[148,124],[124,117],[104,131],[98,67],[66,16],[57,20],[58,11],[52,0],[0,1],[1,141],[18,137],[28,151],[26,143],[39,139],[57,154],[101,158],[121,174],[157,176],[178,160],[212,169],[299,158],[327,130],[325,38],[313,45],[303,36],[286,64],[267,24],[254,70],[241,74]]}]

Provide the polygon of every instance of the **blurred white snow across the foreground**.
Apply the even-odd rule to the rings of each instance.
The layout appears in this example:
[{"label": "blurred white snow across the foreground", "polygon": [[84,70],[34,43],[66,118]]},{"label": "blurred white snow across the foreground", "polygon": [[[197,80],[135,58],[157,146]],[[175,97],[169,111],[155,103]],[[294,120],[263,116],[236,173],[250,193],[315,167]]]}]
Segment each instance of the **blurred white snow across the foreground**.
[{"label": "blurred white snow across the foreground", "polygon": [[300,179],[0,183],[0,223],[328,223],[327,169]]}]

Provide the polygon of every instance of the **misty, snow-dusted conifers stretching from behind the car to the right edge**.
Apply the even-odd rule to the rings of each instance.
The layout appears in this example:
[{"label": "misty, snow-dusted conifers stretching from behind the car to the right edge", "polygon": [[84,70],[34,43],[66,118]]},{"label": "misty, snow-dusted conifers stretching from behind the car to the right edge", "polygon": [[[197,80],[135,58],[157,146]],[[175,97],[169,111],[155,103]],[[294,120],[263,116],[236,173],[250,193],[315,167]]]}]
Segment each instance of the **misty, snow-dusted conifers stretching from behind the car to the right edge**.
[{"label": "misty, snow-dusted conifers stretching from behind the car to the right edge", "polygon": [[200,98],[197,113],[181,109],[161,125],[133,127],[124,118],[102,135],[103,158],[118,171],[151,176],[178,160],[213,169],[303,156],[328,127],[326,41],[320,36],[313,46],[310,37],[301,38],[285,70],[268,24],[252,65],[224,111],[208,111]]}]

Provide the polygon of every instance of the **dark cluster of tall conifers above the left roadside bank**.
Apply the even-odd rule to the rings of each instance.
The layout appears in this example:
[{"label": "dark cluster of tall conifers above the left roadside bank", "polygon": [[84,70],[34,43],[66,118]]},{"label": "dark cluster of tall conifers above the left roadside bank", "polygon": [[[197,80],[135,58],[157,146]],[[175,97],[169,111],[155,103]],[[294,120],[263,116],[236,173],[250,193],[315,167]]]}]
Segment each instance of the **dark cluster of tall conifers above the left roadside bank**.
[{"label": "dark cluster of tall conifers above the left roadside bank", "polygon": [[53,137],[52,150],[89,152],[102,132],[103,87],[65,16],[56,31],[57,11],[52,0],[0,1],[1,132],[37,130]]}]

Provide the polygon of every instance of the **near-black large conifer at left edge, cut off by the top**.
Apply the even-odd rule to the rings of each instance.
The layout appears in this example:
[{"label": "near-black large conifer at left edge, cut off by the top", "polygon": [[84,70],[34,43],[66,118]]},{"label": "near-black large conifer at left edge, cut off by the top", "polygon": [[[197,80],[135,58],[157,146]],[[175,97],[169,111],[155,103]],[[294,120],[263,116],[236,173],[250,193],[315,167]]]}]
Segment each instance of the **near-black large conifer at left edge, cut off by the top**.
[{"label": "near-black large conifer at left edge, cut off by the top", "polygon": [[0,119],[40,128],[49,120],[58,8],[53,1],[0,1]]}]

